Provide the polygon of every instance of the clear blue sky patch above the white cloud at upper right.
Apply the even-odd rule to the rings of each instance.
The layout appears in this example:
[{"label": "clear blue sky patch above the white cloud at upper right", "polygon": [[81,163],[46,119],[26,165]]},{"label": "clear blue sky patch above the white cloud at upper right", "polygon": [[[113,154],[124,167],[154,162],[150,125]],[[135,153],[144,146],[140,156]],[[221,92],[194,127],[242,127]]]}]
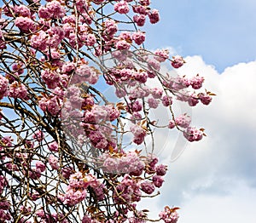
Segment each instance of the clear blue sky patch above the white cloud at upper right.
[{"label": "clear blue sky patch above the white cloud at upper right", "polygon": [[255,1],[152,2],[160,10],[161,21],[148,26],[148,46],[172,45],[179,54],[200,54],[218,71],[255,60]]}]

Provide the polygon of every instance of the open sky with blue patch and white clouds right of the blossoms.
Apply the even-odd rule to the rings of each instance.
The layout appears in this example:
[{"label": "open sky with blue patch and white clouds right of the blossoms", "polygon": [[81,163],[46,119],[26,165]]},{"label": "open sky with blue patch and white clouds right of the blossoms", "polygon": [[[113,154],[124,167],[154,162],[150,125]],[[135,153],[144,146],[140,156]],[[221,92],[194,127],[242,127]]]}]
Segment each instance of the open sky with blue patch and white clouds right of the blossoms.
[{"label": "open sky with blue patch and white clouds right of the blossoms", "polygon": [[178,206],[179,223],[255,223],[256,2],[152,2],[161,21],[147,26],[146,46],[182,54],[187,63],[177,72],[200,73],[217,96],[193,108],[193,124],[207,137],[186,144],[175,162],[172,134],[158,136],[166,138],[160,156],[169,172],[160,197],[143,207],[156,216],[166,205]]}]

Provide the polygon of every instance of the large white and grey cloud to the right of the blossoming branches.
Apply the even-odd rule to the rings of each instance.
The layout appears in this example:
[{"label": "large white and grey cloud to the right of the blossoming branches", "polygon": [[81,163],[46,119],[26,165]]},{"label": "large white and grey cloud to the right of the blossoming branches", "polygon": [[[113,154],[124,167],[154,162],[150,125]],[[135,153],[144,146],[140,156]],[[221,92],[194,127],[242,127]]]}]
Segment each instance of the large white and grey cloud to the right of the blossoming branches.
[{"label": "large white and grey cloud to the right of the blossoming branches", "polygon": [[[207,137],[189,143],[176,162],[169,163],[169,159],[165,159],[169,173],[162,195],[155,200],[154,213],[169,204],[182,208],[180,223],[253,223],[256,61],[228,67],[219,74],[200,56],[185,60],[187,64],[179,72],[205,76],[205,87],[217,96],[212,105],[193,109],[194,123],[205,127]],[[172,142],[161,155],[168,157],[171,152]]]}]

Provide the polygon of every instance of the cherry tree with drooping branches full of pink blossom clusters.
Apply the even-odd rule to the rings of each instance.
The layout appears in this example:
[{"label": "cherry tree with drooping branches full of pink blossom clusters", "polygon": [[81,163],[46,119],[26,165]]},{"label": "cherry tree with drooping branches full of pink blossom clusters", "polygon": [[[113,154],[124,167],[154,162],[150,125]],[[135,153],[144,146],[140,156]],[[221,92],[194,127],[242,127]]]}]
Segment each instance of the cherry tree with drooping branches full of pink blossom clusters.
[{"label": "cherry tree with drooping branches full of pink blossom clusters", "polygon": [[0,12],[0,221],[177,222],[177,208],[154,220],[138,208],[167,170],[154,130],[201,140],[172,106],[214,94],[163,71],[183,57],[145,48],[143,26],[160,20],[150,0],[3,0]]}]

